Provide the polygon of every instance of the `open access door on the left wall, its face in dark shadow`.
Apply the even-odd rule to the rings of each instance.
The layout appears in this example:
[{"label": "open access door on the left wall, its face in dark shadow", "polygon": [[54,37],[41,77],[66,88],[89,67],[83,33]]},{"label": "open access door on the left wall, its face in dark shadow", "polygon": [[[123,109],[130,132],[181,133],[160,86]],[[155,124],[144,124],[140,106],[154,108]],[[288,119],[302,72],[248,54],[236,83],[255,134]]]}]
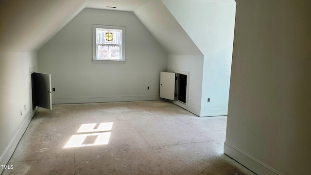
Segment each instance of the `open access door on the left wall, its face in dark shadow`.
[{"label": "open access door on the left wall, its face in dark shadow", "polygon": [[33,106],[52,109],[51,74],[32,73]]}]

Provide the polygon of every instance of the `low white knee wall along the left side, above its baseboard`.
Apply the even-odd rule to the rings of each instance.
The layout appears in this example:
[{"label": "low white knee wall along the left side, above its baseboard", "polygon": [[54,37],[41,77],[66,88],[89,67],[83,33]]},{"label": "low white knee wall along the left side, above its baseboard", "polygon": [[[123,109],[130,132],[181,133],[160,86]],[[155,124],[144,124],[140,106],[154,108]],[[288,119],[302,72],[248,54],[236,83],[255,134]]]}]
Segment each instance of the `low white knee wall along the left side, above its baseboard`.
[{"label": "low white knee wall along the left side, above its baseboard", "polygon": [[9,161],[34,115],[31,72],[37,68],[36,56],[33,52],[0,53],[0,165]]}]

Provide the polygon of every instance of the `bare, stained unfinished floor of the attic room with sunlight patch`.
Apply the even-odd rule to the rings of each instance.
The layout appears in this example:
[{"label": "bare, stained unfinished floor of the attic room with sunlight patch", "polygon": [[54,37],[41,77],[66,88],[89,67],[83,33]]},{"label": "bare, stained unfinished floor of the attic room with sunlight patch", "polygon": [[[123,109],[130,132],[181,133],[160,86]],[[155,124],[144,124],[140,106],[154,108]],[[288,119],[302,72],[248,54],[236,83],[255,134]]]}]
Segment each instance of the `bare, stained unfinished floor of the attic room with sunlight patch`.
[{"label": "bare, stained unfinished floor of the attic room with sunlight patch", "polygon": [[166,101],[53,105],[2,175],[255,175],[223,154],[225,129]]}]

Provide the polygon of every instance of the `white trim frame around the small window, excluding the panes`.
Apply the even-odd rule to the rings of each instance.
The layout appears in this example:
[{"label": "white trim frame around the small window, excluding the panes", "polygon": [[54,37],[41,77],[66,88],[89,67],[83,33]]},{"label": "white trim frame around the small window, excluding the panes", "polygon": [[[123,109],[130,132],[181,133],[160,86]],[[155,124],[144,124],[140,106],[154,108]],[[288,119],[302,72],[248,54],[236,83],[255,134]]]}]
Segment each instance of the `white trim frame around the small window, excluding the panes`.
[{"label": "white trim frame around the small window, excluding the panes", "polygon": [[[122,30],[122,59],[97,59],[96,55],[96,28],[104,28],[104,29],[117,29]],[[92,42],[93,42],[93,63],[108,63],[108,64],[124,64],[125,59],[125,27],[124,26],[107,26],[107,25],[92,25]]]}]

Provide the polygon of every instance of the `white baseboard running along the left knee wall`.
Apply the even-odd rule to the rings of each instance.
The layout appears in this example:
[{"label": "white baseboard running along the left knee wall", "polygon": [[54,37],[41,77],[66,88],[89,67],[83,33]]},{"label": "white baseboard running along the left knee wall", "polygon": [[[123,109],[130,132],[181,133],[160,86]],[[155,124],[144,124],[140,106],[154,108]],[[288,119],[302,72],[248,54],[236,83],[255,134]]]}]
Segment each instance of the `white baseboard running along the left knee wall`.
[{"label": "white baseboard running along the left knee wall", "polygon": [[[24,135],[29,123],[31,122],[33,116],[35,115],[36,109],[37,109],[37,107],[35,108],[35,110],[32,113],[28,113],[28,115],[25,117],[24,121],[21,123],[19,129],[17,130],[16,134],[12,138],[11,142],[9,143],[9,145],[6,147],[3,154],[1,155],[0,165],[6,165],[9,162],[10,158],[12,157],[12,155],[13,155],[16,147],[17,147],[19,140]],[[3,169],[0,168],[0,174],[2,173],[2,171],[3,171]]]}]

